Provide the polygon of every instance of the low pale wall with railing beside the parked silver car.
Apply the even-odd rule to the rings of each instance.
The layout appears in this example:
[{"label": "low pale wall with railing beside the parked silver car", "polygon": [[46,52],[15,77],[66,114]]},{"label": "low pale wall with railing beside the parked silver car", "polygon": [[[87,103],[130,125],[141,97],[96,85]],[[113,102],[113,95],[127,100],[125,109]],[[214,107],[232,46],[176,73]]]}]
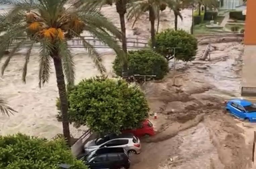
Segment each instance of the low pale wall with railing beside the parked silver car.
[{"label": "low pale wall with railing beside the parked silver car", "polygon": [[88,138],[92,135],[90,130],[87,130],[79,139],[71,146],[71,152],[76,157],[82,153],[84,145]]}]

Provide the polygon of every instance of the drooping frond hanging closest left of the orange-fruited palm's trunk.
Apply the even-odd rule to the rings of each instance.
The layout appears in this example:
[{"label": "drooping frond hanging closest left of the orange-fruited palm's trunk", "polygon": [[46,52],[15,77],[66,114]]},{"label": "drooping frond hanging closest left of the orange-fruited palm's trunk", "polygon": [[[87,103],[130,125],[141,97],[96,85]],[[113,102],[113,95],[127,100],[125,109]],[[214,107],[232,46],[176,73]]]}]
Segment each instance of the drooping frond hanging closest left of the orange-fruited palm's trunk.
[{"label": "drooping frond hanging closest left of the orange-fruited palm's trunk", "polygon": [[39,54],[39,88],[42,84],[45,84],[49,80],[50,69],[51,69],[51,52],[53,46],[48,38],[44,38],[40,41],[41,49]]}]

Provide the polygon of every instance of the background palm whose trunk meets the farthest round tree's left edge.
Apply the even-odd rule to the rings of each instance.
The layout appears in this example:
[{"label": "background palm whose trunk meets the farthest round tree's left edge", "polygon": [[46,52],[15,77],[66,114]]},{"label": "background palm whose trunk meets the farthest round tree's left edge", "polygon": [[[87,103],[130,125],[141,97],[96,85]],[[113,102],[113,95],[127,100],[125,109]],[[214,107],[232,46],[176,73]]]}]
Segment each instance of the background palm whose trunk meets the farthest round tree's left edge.
[{"label": "background palm whose trunk meets the farthest round tree's left edge", "polygon": [[133,26],[136,21],[140,18],[144,12],[149,11],[149,21],[150,21],[150,35],[151,35],[151,47],[153,48],[156,44],[155,39],[155,20],[159,16],[160,6],[165,4],[166,1],[171,0],[137,0],[129,4],[129,11],[127,14],[128,19],[135,18]]}]

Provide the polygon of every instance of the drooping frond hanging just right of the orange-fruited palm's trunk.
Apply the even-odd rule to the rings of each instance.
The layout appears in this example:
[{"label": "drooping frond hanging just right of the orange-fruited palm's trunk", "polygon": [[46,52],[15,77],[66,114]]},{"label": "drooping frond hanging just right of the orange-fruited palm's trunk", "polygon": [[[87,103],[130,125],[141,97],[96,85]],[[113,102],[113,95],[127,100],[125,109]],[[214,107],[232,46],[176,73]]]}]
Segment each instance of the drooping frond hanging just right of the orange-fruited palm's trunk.
[{"label": "drooping frond hanging just right of the orange-fruited palm's trunk", "polygon": [[62,60],[62,67],[64,70],[64,75],[66,77],[67,83],[73,85],[75,79],[73,55],[68,49],[66,41],[58,40],[56,42],[56,46],[58,48],[58,52]]}]

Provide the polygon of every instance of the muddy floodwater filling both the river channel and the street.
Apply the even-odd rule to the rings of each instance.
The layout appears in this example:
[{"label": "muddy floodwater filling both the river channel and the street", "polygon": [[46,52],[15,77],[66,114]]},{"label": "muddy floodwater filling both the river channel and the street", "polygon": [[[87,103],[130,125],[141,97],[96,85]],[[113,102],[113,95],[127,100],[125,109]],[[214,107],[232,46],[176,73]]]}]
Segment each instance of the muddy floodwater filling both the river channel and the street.
[{"label": "muddy floodwater filling both the river channel and the street", "polygon": [[[103,13],[118,27],[119,18],[115,6],[105,6]],[[184,20],[179,27],[187,31],[191,26],[191,10],[182,11]],[[160,30],[173,27],[173,14],[161,13]],[[149,22],[144,15],[131,28],[127,22],[127,37],[138,34],[149,36]],[[212,41],[217,41],[211,39]],[[243,45],[240,43],[213,44],[211,60],[200,60],[208,44],[201,42],[196,60],[178,62],[176,84],[172,86],[172,71],[161,81],[142,86],[151,111],[158,113],[152,120],[158,134],[143,140],[143,152],[134,156],[132,169],[249,169],[251,167],[252,132],[255,126],[235,120],[223,113],[223,101],[240,95],[240,70]],[[112,74],[114,54],[101,50],[108,74]],[[84,50],[73,50],[76,65],[76,82],[99,74]],[[49,83],[38,88],[38,52],[31,56],[27,83],[21,82],[24,51],[15,55],[3,77],[0,78],[0,94],[18,111],[14,116],[1,116],[0,134],[22,132],[51,138],[62,132],[55,115],[55,99],[58,96],[54,69]],[[104,54],[105,53],[105,54]],[[4,61],[1,60],[0,64]],[[172,69],[172,62],[170,62]],[[71,133],[78,137],[86,128]]]}]

